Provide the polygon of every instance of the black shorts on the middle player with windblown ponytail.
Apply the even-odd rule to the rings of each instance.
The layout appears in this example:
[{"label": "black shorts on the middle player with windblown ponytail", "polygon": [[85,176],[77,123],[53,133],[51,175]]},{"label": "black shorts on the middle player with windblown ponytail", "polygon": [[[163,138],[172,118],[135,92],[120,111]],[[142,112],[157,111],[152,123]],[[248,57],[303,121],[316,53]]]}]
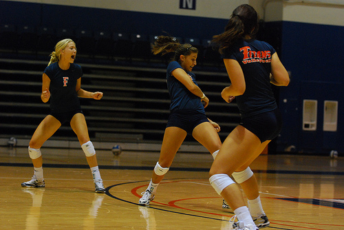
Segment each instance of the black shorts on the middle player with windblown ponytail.
[{"label": "black shorts on the middle player with windblown ponytail", "polygon": [[166,127],[179,127],[192,134],[193,129],[204,122],[209,122],[205,114],[194,110],[176,110],[171,112]]}]

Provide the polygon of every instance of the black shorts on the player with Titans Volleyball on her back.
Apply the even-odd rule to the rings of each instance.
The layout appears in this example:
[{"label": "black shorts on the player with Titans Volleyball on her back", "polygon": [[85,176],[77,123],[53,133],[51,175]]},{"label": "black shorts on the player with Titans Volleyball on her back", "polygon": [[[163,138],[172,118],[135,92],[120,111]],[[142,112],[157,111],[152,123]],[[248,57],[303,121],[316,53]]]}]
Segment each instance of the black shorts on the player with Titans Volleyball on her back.
[{"label": "black shorts on the player with Titans Volleyball on her back", "polygon": [[240,125],[258,136],[261,143],[277,137],[282,129],[282,116],[279,109],[241,118]]}]

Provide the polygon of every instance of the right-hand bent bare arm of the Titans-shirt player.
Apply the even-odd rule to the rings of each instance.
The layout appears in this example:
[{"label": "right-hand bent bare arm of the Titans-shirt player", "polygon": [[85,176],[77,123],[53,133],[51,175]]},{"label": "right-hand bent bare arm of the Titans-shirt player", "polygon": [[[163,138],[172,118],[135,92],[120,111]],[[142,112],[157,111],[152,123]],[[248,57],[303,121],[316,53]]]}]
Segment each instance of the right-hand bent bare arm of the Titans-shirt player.
[{"label": "right-hand bent bare arm of the Titans-shirt player", "polygon": [[277,53],[272,54],[270,82],[274,85],[287,86],[290,79],[286,68],[279,60]]}]

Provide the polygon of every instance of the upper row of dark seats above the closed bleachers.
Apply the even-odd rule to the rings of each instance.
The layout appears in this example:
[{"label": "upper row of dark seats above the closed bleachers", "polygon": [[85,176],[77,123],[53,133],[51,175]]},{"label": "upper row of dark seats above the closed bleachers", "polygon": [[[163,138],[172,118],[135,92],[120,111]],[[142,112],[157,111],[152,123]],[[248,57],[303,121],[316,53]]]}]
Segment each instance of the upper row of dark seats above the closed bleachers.
[{"label": "upper row of dark seats above the closed bleachers", "polygon": [[[0,50],[47,55],[54,50],[58,41],[69,38],[76,42],[78,56],[87,59],[125,60],[129,63],[133,59],[150,63],[153,59],[153,62],[166,63],[169,56],[160,59],[151,54],[151,43],[156,37],[157,35],[152,34],[1,24]],[[199,50],[197,62],[202,66],[223,67],[219,54],[211,47],[210,40],[181,36],[176,38],[180,43],[190,43]]]}]

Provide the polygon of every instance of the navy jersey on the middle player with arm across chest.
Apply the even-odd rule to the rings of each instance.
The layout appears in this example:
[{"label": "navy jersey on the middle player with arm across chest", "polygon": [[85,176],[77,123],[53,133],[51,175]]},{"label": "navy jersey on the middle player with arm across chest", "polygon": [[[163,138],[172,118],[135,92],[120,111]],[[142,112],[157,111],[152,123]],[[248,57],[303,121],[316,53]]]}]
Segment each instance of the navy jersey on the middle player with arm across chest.
[{"label": "navy jersey on the middle player with arm across chest", "polygon": [[[172,61],[167,67],[166,81],[167,88],[169,89],[169,94],[171,97],[170,110],[196,110],[202,114],[204,112],[204,106],[201,102],[200,97],[191,93],[180,81],[175,79],[172,76],[171,72],[177,68],[182,69],[182,66],[177,61]],[[193,83],[196,83],[196,76],[192,72],[186,72],[193,80]]]}]

